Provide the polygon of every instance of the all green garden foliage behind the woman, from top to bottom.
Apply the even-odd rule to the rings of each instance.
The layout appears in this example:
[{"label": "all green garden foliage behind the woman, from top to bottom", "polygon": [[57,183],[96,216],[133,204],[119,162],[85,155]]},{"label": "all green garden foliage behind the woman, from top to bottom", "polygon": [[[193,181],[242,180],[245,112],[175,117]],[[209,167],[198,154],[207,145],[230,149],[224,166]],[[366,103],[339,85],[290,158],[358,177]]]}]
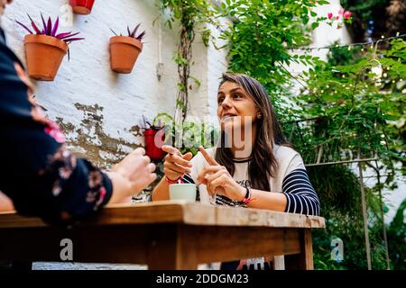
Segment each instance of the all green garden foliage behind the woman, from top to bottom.
[{"label": "all green garden foliage behind the woman, from top to bottom", "polygon": [[[342,2],[366,20],[372,7],[384,1]],[[202,4],[201,0],[162,3],[174,12],[170,22],[177,19],[183,28],[188,28],[190,19],[214,25],[219,25],[220,17],[233,20],[221,27],[224,32],[220,36],[228,42],[229,71],[253,76],[265,86],[285,134],[305,163],[314,163],[321,147],[323,162],[337,161],[343,153],[346,157],[359,153],[359,157],[380,158],[375,168],[385,175],[383,183],[366,188],[365,194],[372,265],[385,269],[381,211],[386,207],[381,207],[379,190],[395,188],[395,175],[406,175],[406,42],[397,39],[372,48],[337,47],[330,49],[328,61],[322,61],[298,48],[309,45],[311,32],[327,20],[327,15],[316,14],[315,8],[328,1],[226,0],[218,6]],[[185,9],[191,9],[187,19],[183,17]],[[208,30],[202,36],[208,44]],[[180,67],[184,58],[175,57]],[[288,69],[291,64],[302,64],[307,69],[292,75]],[[300,86],[299,94],[292,92],[293,86]],[[196,129],[189,127],[191,131]],[[368,165],[376,163],[363,167]],[[322,216],[327,219],[327,229],[314,233],[316,269],[367,267],[360,184],[352,171],[350,166],[309,167]],[[393,269],[405,268],[405,205],[403,202],[387,228]],[[337,237],[344,242],[342,263],[332,261],[330,256],[331,239]]]}]

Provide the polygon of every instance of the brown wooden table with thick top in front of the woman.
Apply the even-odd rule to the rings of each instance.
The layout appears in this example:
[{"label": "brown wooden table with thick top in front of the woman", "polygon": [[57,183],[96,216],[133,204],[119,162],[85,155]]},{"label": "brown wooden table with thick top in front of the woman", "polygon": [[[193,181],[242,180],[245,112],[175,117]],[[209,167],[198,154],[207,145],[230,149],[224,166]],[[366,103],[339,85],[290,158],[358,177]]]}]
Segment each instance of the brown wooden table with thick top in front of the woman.
[{"label": "brown wooden table with thick top in front of the woman", "polygon": [[0,261],[60,261],[60,241],[73,241],[73,261],[196,269],[198,264],[284,255],[286,269],[313,269],[311,229],[321,217],[199,202],[146,202],[105,208],[68,229],[38,218],[0,213]]}]

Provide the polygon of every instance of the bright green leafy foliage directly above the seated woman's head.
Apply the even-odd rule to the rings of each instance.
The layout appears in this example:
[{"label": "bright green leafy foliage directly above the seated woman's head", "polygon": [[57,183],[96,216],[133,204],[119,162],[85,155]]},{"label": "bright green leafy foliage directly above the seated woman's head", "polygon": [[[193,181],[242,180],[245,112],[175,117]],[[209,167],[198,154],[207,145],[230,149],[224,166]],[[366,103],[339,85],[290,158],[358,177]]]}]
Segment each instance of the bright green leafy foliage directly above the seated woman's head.
[{"label": "bright green leafy foliage directly above the seated woman's head", "polygon": [[[327,17],[318,17],[314,9],[327,1],[254,1],[235,0],[223,4],[223,14],[235,17],[235,23],[223,34],[228,40],[229,70],[253,76],[272,95],[288,94],[291,63],[312,65],[317,58],[294,57],[290,49],[310,43],[310,31]],[[310,18],[314,21],[310,23]],[[274,97],[272,97],[274,98]]]}]

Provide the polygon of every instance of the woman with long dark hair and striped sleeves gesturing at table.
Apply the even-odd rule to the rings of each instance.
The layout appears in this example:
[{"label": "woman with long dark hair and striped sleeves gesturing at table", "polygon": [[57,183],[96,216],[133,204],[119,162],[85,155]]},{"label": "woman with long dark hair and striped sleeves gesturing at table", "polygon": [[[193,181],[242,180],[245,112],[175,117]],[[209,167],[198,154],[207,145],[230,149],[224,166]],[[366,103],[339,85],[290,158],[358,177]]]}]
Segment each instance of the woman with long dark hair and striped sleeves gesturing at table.
[{"label": "woman with long dark hair and striped sleeves gesturing at table", "polygon": [[[319,215],[318,195],[309,182],[300,154],[284,138],[263,85],[252,77],[225,74],[217,93],[221,126],[217,148],[182,155],[163,146],[165,176],[152,201],[169,199],[169,185],[181,180],[215,195],[217,205]],[[203,188],[203,189],[202,189]],[[243,262],[223,264],[242,268]],[[257,266],[245,262],[246,266]],[[266,266],[265,264],[259,264]]]}]

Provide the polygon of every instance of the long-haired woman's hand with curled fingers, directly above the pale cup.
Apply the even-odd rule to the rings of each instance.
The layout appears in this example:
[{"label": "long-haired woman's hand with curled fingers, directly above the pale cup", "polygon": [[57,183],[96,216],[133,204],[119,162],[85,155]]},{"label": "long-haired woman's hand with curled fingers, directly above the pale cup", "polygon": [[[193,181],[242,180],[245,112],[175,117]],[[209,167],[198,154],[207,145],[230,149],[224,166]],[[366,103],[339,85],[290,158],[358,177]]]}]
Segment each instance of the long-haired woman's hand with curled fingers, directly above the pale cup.
[{"label": "long-haired woman's hand with curled fingers, directly above the pale cup", "polygon": [[169,145],[163,145],[162,150],[168,152],[164,158],[163,173],[169,180],[176,181],[182,175],[191,173],[190,167],[192,164],[189,160],[193,157],[193,154],[188,152],[185,155],[182,155],[180,150]]}]

